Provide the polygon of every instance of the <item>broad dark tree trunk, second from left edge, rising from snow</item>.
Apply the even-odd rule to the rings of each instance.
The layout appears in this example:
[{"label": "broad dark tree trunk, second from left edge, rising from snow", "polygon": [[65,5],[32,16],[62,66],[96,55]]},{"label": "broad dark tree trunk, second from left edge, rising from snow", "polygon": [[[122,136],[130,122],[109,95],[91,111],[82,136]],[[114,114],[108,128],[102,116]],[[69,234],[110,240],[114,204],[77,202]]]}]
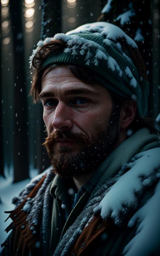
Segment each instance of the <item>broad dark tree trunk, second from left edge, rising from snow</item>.
[{"label": "broad dark tree trunk, second from left edge, rising from snow", "polygon": [[29,178],[27,94],[22,33],[22,1],[10,1],[14,54],[14,182]]}]

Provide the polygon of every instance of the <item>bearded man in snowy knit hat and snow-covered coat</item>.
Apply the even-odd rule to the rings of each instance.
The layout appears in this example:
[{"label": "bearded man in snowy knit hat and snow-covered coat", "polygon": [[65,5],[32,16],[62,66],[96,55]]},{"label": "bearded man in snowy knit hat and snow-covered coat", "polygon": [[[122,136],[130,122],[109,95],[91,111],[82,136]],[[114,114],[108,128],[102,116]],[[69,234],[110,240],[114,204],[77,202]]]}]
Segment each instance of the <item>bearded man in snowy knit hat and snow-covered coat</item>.
[{"label": "bearded man in snowy knit hat and snow-covered coat", "polygon": [[40,41],[30,61],[52,167],[14,198],[1,255],[159,255],[159,131],[143,118],[137,45],[96,22]]}]

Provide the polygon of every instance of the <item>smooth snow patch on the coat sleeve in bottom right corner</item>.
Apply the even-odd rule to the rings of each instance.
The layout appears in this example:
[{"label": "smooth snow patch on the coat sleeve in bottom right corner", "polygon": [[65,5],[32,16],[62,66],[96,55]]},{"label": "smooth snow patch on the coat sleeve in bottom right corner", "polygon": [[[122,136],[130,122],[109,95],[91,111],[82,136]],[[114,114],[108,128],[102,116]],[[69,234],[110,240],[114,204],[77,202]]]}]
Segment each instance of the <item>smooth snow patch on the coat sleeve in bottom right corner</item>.
[{"label": "smooth snow patch on the coat sleeve in bottom right corner", "polygon": [[[133,227],[140,223],[136,235],[126,245],[123,254],[125,256],[149,256],[158,255],[160,238],[160,182],[153,197],[140,208],[130,219],[128,226]],[[147,245],[147,246],[146,246]]]}]

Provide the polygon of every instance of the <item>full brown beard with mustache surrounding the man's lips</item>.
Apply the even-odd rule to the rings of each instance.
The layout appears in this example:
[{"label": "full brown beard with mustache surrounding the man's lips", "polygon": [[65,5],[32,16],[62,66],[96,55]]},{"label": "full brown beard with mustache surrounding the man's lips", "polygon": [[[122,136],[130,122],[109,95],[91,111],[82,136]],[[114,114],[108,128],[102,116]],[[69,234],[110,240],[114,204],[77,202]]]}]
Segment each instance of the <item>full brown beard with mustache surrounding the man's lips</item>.
[{"label": "full brown beard with mustache surrounding the man's lips", "polygon": [[[46,146],[54,173],[70,178],[84,176],[94,171],[116,145],[119,137],[119,119],[116,116],[111,116],[105,128],[97,127],[96,135],[93,135],[92,139],[85,137],[83,133],[70,130],[56,130],[53,134],[51,133],[43,145]],[[81,151],[74,151],[73,146],[59,146],[57,152],[53,153],[54,143],[62,138],[80,142]]]}]

